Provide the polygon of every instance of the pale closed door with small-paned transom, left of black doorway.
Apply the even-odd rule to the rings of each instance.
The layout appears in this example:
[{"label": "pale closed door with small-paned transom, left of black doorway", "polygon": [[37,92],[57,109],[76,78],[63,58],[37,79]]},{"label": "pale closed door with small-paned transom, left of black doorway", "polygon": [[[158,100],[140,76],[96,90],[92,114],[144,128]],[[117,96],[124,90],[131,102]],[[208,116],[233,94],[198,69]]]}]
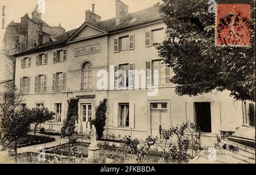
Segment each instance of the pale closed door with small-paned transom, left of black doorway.
[{"label": "pale closed door with small-paned transom, left of black doorway", "polygon": [[167,103],[151,103],[151,136],[161,139],[161,130],[170,129]]}]

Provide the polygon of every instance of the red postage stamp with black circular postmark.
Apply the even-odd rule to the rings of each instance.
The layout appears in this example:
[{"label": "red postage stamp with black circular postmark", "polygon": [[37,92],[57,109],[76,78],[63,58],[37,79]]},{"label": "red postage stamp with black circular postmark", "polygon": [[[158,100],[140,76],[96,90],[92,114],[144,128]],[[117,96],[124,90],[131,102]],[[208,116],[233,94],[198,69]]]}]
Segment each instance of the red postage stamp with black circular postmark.
[{"label": "red postage stamp with black circular postmark", "polygon": [[251,8],[245,4],[217,4],[216,45],[250,45]]}]

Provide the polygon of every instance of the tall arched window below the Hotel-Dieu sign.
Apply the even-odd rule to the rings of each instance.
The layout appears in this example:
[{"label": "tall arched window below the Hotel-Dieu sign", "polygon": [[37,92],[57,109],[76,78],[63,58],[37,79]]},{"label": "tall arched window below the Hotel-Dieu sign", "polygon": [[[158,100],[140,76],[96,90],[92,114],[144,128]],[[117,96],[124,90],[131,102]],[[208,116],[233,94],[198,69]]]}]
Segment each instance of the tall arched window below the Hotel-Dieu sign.
[{"label": "tall arched window below the Hotel-Dieu sign", "polygon": [[82,89],[92,89],[92,64],[90,62],[82,65]]}]

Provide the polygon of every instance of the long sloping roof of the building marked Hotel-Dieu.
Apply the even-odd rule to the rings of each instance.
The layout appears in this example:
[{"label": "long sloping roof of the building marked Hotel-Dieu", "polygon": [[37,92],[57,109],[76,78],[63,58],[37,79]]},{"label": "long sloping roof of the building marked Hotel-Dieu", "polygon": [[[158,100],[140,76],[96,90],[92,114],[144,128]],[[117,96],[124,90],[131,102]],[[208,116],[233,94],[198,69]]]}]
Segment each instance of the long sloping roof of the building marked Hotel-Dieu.
[{"label": "long sloping roof of the building marked Hotel-Dieu", "polygon": [[[131,19],[133,19],[133,18],[135,18],[137,20],[135,20],[135,22],[131,23]],[[34,18],[34,19],[38,19],[38,18]],[[142,26],[143,24],[158,22],[160,20],[162,20],[162,17],[159,13],[159,7],[158,6],[153,6],[153,7],[150,7],[150,8],[147,8],[147,9],[137,11],[137,12],[133,12],[133,13],[129,14],[129,16],[127,16],[127,18],[125,18],[118,25],[115,24],[115,18],[112,18],[112,19],[104,20],[104,21],[99,22],[99,23],[85,22],[85,23],[82,24],[82,26],[85,26],[85,24],[88,23],[88,24],[90,24],[94,27],[100,28],[104,31],[107,31],[107,32],[111,33],[111,32],[115,32],[115,31],[119,31],[119,30],[125,30],[126,28]],[[63,34],[63,35],[57,36],[55,38],[56,41],[53,42],[53,43],[48,41],[47,43],[44,43],[40,47],[29,49],[26,52],[36,51],[36,50],[40,50],[40,49],[46,49],[46,48],[49,48],[49,47],[55,47],[57,45],[65,44],[65,43],[67,43],[67,41],[69,39],[69,36],[71,36],[73,34],[76,34],[77,31],[81,30],[81,27],[76,28],[76,29],[71,30],[71,31],[68,31],[68,32],[65,32],[65,34]],[[26,52],[18,53],[16,55],[17,56],[22,55]]]}]

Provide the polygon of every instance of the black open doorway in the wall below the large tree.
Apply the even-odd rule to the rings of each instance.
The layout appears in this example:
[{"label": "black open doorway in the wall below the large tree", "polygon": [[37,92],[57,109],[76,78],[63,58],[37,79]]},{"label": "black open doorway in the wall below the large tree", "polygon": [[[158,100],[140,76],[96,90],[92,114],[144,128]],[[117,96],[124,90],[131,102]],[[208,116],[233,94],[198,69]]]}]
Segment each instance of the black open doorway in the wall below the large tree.
[{"label": "black open doorway in the wall below the large tree", "polygon": [[195,123],[202,132],[212,132],[210,102],[195,102]]}]

